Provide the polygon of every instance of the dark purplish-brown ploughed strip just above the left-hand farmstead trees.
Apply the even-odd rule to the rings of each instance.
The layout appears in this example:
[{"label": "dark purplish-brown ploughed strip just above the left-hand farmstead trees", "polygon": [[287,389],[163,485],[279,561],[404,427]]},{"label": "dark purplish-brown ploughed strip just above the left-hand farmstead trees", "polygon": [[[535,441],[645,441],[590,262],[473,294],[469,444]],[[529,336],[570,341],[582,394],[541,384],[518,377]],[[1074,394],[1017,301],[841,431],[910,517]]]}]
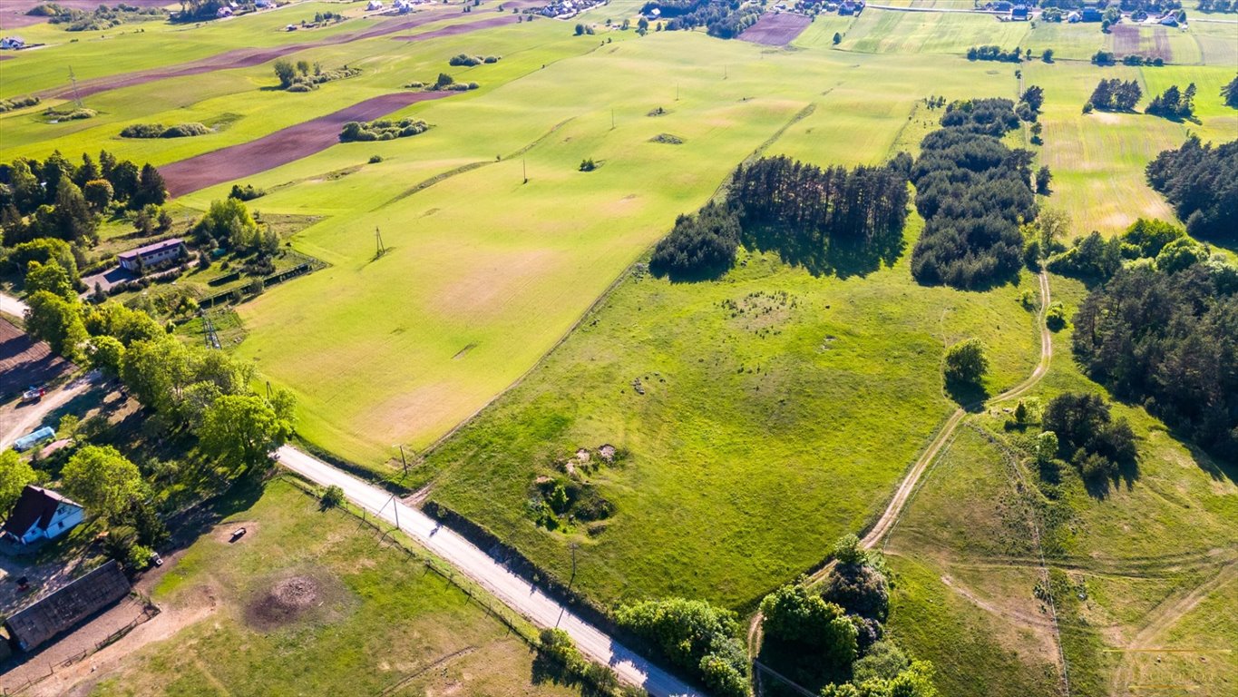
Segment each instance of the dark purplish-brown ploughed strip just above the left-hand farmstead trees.
[{"label": "dark purplish-brown ploughed strip just above the left-hand farmstead trees", "polygon": [[371,121],[409,104],[438,99],[452,92],[397,92],[366,99],[271,135],[215,150],[160,167],[171,196],[183,196],[209,186],[274,170],[339,142],[348,121]]}]

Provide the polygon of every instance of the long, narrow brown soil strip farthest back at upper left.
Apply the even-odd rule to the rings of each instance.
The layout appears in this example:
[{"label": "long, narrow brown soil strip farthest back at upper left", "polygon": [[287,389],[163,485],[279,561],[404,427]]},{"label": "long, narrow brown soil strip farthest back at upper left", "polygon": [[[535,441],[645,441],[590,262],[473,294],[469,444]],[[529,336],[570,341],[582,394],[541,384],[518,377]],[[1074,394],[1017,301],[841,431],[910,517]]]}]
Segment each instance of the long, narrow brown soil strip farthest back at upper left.
[{"label": "long, narrow brown soil strip farthest back at upper left", "polygon": [[[399,31],[407,31],[411,28],[420,27],[431,22],[442,21],[449,19],[452,15],[444,15],[442,12],[425,12],[422,15],[416,15],[402,20],[384,21],[378,26],[370,27],[365,31],[359,31],[355,33],[342,33],[323,38],[321,41],[311,41],[306,43],[291,43],[287,46],[275,46],[271,48],[236,48],[233,51],[225,51],[215,56],[202,58],[201,61],[191,61],[188,63],[181,63],[177,66],[167,66],[163,68],[155,68],[152,71],[137,71],[134,73],[121,74],[121,76],[109,76],[105,78],[97,78],[90,80],[83,80],[78,83],[78,94],[80,97],[90,97],[92,94],[98,94],[100,92],[108,92],[111,89],[120,89],[124,87],[132,87],[135,84],[145,84],[149,82],[180,78],[184,76],[197,76],[202,73],[213,73],[215,71],[230,71],[235,68],[251,68],[254,66],[261,66],[269,61],[274,61],[280,56],[286,56],[288,53],[296,53],[297,51],[305,51],[306,48],[314,48],[318,46],[337,46],[340,43],[352,43],[353,41],[363,41],[366,38],[375,38],[379,36],[386,36],[389,33],[395,33]],[[423,38],[435,38],[436,36],[454,36],[458,33],[464,33],[479,28],[485,28],[494,26],[496,24],[514,22],[516,17],[514,15],[504,15],[501,17],[489,17],[485,20],[479,20],[475,22],[469,22],[464,25],[453,25],[451,27],[444,27],[447,33],[439,33],[437,31],[431,31],[427,33],[406,37],[407,41],[421,41]],[[56,88],[42,97],[58,97],[68,99],[72,97],[73,90],[66,89],[63,87]]]}]

